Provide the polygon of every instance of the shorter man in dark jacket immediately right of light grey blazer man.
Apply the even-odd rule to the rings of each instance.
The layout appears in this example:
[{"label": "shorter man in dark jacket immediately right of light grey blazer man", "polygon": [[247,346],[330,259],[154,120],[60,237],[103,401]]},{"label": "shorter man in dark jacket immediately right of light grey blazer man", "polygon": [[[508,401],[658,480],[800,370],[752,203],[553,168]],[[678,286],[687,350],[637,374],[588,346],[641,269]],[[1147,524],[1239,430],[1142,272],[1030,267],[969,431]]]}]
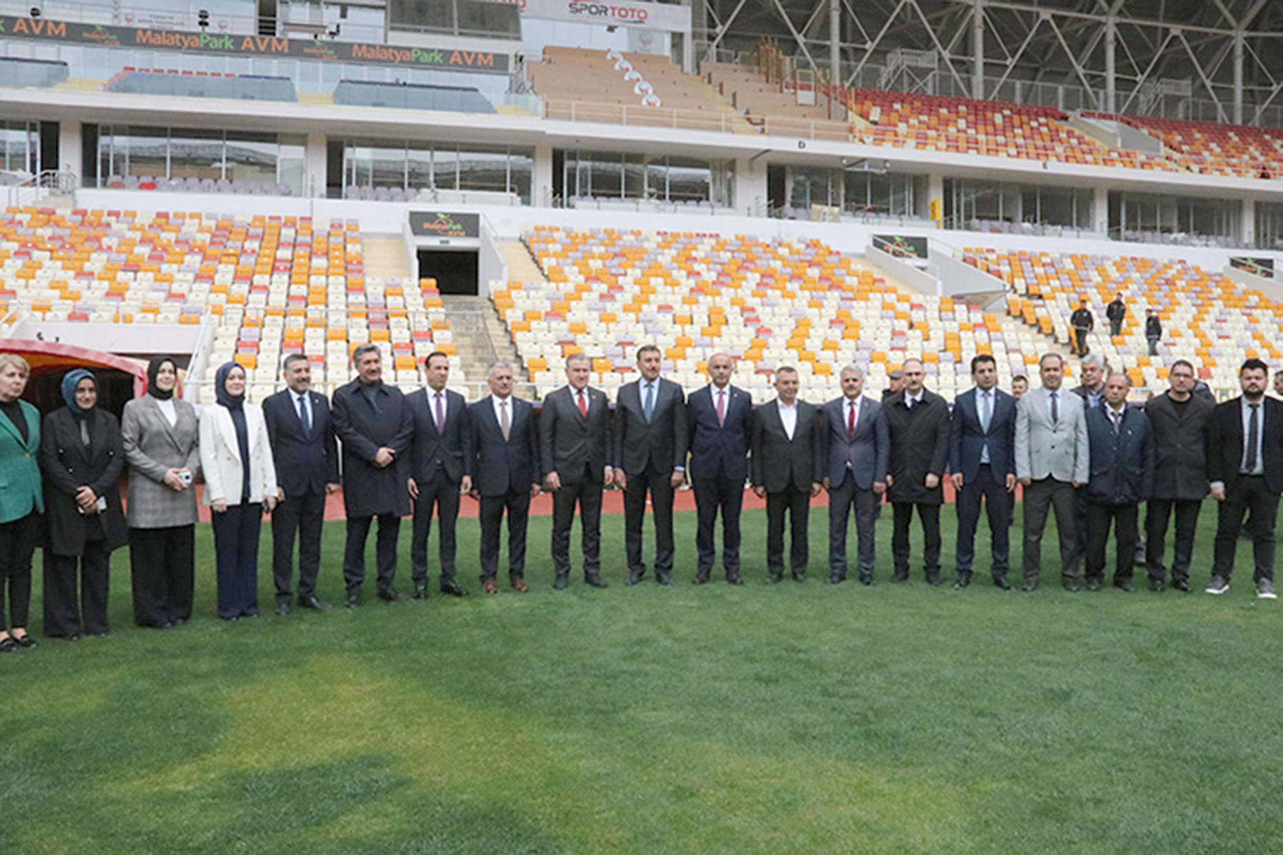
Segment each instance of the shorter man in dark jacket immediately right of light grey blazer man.
[{"label": "shorter man in dark jacket immediately right of light grey blazer man", "polygon": [[1121,372],[1105,381],[1105,403],[1087,410],[1091,477],[1087,504],[1087,590],[1100,591],[1110,524],[1117,542],[1114,587],[1128,594],[1135,558],[1137,515],[1153,492],[1153,431],[1139,408],[1126,405],[1132,382]]}]

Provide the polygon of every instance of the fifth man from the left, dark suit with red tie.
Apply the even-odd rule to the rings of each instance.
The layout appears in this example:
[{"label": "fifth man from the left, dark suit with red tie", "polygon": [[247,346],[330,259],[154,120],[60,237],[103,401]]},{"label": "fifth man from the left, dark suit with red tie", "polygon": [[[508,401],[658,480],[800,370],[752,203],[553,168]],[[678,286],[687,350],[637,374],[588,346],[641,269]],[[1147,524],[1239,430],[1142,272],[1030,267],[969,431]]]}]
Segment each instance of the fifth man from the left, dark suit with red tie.
[{"label": "fifth man from the left, dark suit with red tie", "polygon": [[584,582],[604,588],[602,578],[602,490],[613,479],[609,464],[611,413],[606,392],[589,388],[591,361],[566,358],[566,386],[544,399],[539,447],[544,487],[553,494],[554,588],[570,585],[570,529],[579,508],[582,527]]}]

